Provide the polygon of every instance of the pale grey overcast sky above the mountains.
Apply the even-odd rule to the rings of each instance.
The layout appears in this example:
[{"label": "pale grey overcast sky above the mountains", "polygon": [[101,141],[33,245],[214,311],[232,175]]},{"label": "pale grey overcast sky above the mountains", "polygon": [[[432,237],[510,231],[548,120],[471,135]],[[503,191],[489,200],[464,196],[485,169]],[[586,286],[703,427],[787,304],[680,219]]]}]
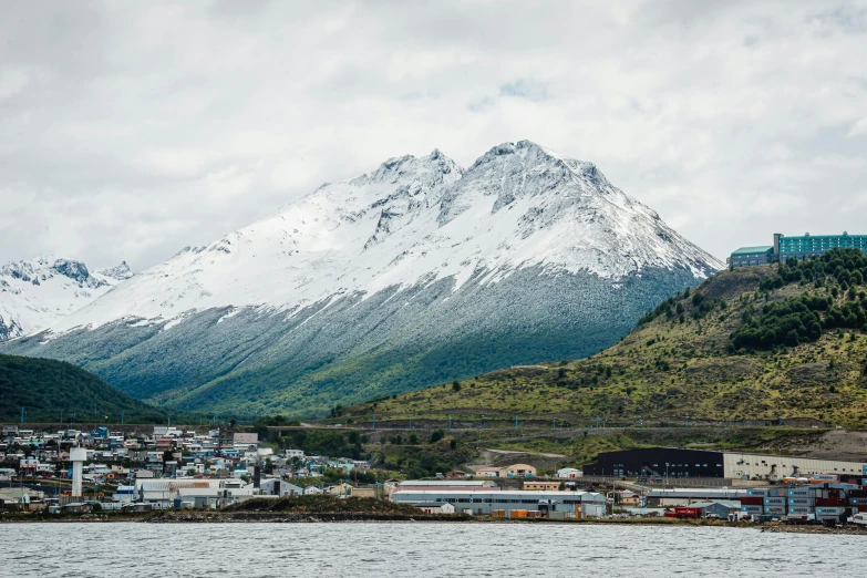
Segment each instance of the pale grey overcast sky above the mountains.
[{"label": "pale grey overcast sky above the mountains", "polygon": [[867,3],[0,0],[0,262],[134,270],[528,138],[718,257],[867,234]]}]

